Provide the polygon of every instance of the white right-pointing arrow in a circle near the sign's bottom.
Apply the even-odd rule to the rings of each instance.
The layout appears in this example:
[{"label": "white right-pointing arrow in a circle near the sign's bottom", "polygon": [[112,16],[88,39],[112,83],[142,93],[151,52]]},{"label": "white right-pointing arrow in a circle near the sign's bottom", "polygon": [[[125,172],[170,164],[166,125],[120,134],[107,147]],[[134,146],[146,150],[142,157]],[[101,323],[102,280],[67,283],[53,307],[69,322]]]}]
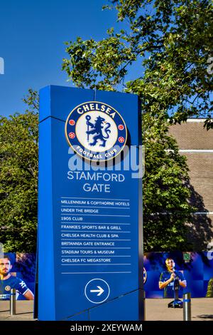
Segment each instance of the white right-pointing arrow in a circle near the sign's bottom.
[{"label": "white right-pointing arrow in a circle near the sign's bottom", "polygon": [[84,289],[84,294],[90,302],[101,304],[109,297],[110,289],[104,279],[95,278],[90,280]]}]

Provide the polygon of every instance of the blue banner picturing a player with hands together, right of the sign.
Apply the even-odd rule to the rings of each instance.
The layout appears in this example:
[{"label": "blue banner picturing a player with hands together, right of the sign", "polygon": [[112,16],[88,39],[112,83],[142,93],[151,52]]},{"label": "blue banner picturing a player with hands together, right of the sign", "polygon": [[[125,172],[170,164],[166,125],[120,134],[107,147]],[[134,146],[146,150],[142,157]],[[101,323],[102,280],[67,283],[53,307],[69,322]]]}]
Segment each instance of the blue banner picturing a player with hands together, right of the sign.
[{"label": "blue banner picturing a player with hands together, right of the sign", "polygon": [[144,255],[146,298],[173,298],[175,278],[179,297],[213,297],[213,257],[210,252],[149,252]]}]

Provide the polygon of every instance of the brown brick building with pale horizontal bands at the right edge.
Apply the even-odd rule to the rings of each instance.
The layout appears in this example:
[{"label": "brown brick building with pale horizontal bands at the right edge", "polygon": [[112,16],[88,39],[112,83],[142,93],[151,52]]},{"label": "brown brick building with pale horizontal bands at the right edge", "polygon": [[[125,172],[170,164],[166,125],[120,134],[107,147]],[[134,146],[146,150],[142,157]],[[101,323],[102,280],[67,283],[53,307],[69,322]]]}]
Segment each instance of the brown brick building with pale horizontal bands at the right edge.
[{"label": "brown brick building with pale horizontal bands at the right edge", "polygon": [[172,125],[170,135],[177,140],[180,155],[187,157],[190,168],[193,215],[189,239],[197,250],[207,249],[213,242],[213,130],[207,131],[204,119],[189,119],[181,125]]}]

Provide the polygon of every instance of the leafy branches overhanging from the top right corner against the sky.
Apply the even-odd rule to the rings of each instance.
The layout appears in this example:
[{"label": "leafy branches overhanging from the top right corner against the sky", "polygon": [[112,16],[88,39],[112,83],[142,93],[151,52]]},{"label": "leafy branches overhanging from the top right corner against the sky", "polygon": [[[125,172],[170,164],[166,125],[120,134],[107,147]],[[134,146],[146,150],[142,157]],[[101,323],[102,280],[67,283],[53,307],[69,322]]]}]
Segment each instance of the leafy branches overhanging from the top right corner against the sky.
[{"label": "leafy branches overhanging from the top right corner against the sky", "polygon": [[115,90],[135,66],[138,76],[125,86],[127,92],[141,96],[144,113],[157,117],[163,113],[176,123],[202,115],[210,127],[213,76],[207,68],[213,44],[212,1],[109,2],[124,29],[109,29],[102,41],[67,42],[69,58],[62,68],[69,78],[78,87]]}]

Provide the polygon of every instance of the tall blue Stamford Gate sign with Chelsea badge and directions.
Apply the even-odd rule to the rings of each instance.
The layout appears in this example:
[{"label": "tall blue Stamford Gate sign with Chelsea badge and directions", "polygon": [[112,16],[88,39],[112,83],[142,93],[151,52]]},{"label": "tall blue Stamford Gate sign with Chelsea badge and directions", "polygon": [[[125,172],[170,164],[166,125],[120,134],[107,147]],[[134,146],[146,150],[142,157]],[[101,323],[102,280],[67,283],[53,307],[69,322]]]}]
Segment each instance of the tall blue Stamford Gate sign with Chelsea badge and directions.
[{"label": "tall blue Stamford Gate sign with Chelsea badge and directions", "polygon": [[138,96],[40,91],[38,319],[142,320]]}]

